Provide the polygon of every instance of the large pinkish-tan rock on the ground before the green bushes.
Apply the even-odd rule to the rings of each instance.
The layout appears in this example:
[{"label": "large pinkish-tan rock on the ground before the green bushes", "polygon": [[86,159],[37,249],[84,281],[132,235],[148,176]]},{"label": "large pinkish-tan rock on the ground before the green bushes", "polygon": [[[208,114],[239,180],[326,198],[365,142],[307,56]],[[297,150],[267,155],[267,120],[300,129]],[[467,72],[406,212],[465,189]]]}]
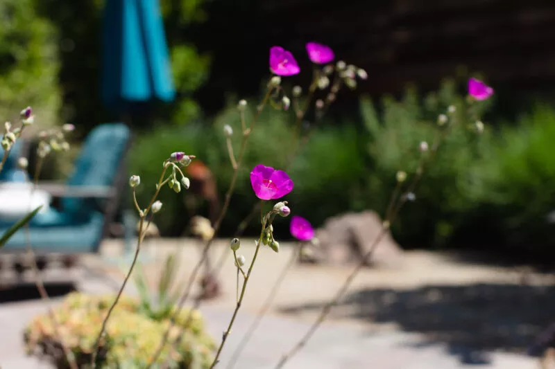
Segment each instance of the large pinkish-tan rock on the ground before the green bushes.
[{"label": "large pinkish-tan rock on the ground before the green bushes", "polygon": [[[302,262],[325,264],[358,264],[370,250],[382,232],[382,219],[373,211],[347,213],[327,219],[316,230],[316,246],[310,246],[309,255]],[[386,231],[366,260],[370,267],[398,267],[402,261],[402,249]]]}]

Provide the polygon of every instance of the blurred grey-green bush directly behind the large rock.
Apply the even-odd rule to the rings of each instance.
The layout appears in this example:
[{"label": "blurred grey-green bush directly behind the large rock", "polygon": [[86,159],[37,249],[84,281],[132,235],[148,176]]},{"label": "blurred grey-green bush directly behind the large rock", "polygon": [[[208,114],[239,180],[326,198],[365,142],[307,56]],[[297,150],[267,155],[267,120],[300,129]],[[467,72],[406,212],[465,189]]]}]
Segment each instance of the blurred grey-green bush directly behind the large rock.
[{"label": "blurred grey-green bush directly behind the large rock", "polygon": [[[475,206],[472,195],[487,186],[474,164],[490,155],[493,137],[490,129],[478,138],[469,129],[475,123],[475,112],[461,109],[463,96],[456,93],[452,80],[445,81],[440,91],[429,93],[423,100],[413,90],[407,91],[402,100],[384,98],[381,114],[368,98],[361,101],[371,166],[366,204],[380,214],[395,188],[395,172],[416,173],[418,144],[427,141],[432,145],[438,114],[446,113],[448,105],[454,105],[456,112],[444,128],[449,129],[449,135],[418,185],[418,206],[405,206],[393,228],[404,246],[442,244],[464,222],[465,215]],[[485,107],[477,105],[476,109]]]}]

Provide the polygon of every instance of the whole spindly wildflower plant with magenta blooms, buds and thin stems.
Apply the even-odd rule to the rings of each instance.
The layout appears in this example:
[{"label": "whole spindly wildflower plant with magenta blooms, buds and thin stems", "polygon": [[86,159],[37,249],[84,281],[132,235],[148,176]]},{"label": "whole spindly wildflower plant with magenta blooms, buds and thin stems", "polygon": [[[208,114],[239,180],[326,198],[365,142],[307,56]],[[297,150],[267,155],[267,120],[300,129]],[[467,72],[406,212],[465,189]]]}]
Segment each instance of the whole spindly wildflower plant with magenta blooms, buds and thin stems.
[{"label": "whole spindly wildflower plant with magenta blooms, buds and thin stems", "polygon": [[[255,240],[255,252],[251,260],[247,260],[247,258],[240,253],[240,236],[244,231],[246,224],[248,224],[247,219],[239,224],[236,237],[234,237],[230,242],[228,252],[232,253],[234,266],[237,269],[237,299],[230,321],[221,337],[221,342],[217,345],[214,357],[211,359],[211,363],[207,367],[214,368],[214,366],[216,366],[219,362],[221,352],[223,351],[225,343],[232,332],[232,327],[237,318],[237,314],[239,314],[239,309],[243,303],[248,283],[250,278],[252,278],[259,250],[262,247],[268,247],[275,253],[279,253],[280,243],[278,240],[275,240],[274,237],[273,221],[278,215],[280,217],[288,217],[291,213],[294,213],[294,206],[290,207],[288,202],[284,201],[284,197],[287,197],[287,195],[289,195],[289,193],[294,189],[294,181],[289,177],[289,174],[287,174],[287,170],[296,158],[302,144],[307,142],[309,139],[309,129],[303,130],[307,111],[314,111],[313,123],[318,123],[330,105],[332,105],[332,103],[336,100],[337,93],[339,93],[343,86],[348,87],[349,89],[355,89],[359,80],[366,80],[368,78],[366,71],[359,69],[357,66],[346,64],[342,60],[334,62],[335,55],[332,48],[329,46],[318,44],[316,42],[309,42],[306,44],[306,51],[309,60],[314,63],[314,73],[311,83],[306,89],[306,93],[303,93],[305,90],[299,86],[293,87],[291,91],[286,91],[286,89],[282,86],[282,78],[290,78],[291,76],[297,75],[300,73],[300,66],[290,51],[287,51],[281,46],[273,46],[269,53],[269,70],[272,75],[268,78],[264,98],[262,98],[262,102],[257,105],[256,114],[253,116],[252,120],[250,120],[250,123],[246,120],[245,111],[248,106],[246,100],[240,100],[237,105],[237,112],[241,122],[239,131],[241,134],[241,142],[237,154],[234,150],[233,138],[236,137],[234,136],[234,131],[239,130],[238,127],[232,127],[230,125],[225,125],[223,127],[222,134],[225,137],[228,155],[230,158],[230,165],[233,169],[230,185],[225,193],[225,201],[223,202],[219,216],[212,224],[211,222],[201,222],[200,220],[196,222],[195,232],[199,235],[202,234],[205,244],[200,255],[200,260],[191,271],[191,276],[189,277],[185,287],[182,288],[182,291],[177,294],[172,293],[171,296],[169,296],[167,293],[169,291],[167,288],[167,280],[171,278],[173,274],[168,271],[167,275],[162,278],[164,282],[162,283],[163,288],[161,291],[165,291],[165,295],[160,297],[164,298],[159,301],[161,309],[154,308],[154,305],[151,305],[150,303],[143,304],[152,316],[160,315],[160,312],[163,312],[165,320],[164,323],[162,323],[162,329],[157,330],[157,334],[154,335],[157,343],[149,341],[149,354],[145,361],[142,361],[142,367],[151,368],[155,366],[158,368],[160,367],[160,363],[162,361],[162,368],[169,367],[171,365],[172,352],[178,352],[179,348],[182,347],[184,342],[183,340],[187,340],[187,332],[190,330],[191,325],[194,324],[194,312],[197,312],[198,306],[200,305],[200,297],[194,300],[193,306],[188,311],[185,311],[183,307],[191,295],[192,286],[198,277],[198,273],[200,273],[201,266],[207,260],[207,255],[210,251],[210,247],[212,246],[214,237],[218,235],[221,222],[227,213],[228,207],[230,206],[230,199],[234,193],[234,189],[239,178],[239,170],[242,169],[241,166],[247,151],[249,137],[253,130],[256,129],[257,118],[266,105],[271,105],[275,109],[280,109],[282,111],[289,111],[289,114],[291,114],[292,111],[292,126],[295,132],[296,147],[295,150],[292,150],[292,152],[290,152],[287,156],[287,165],[285,165],[284,168],[275,169],[270,166],[272,163],[261,163],[256,165],[255,168],[250,171],[250,183],[253,189],[253,200],[255,200],[255,198],[258,199],[253,201],[255,205],[253,206],[251,215],[254,216],[257,211],[260,210],[261,228],[259,236],[257,237],[257,240]],[[332,62],[334,64],[332,64]],[[481,120],[479,120],[475,110],[472,109],[472,105],[488,99],[492,96],[492,94],[493,89],[484,84],[484,82],[474,79],[468,82],[468,114],[471,114],[475,118],[475,125],[471,128],[477,133],[484,130],[484,123],[481,123]],[[391,224],[395,221],[395,218],[404,203],[416,200],[416,186],[418,185],[420,177],[422,177],[422,174],[425,172],[426,166],[434,159],[441,142],[445,136],[449,134],[451,127],[457,124],[455,113],[456,108],[454,106],[448,107],[445,113],[441,114],[437,118],[436,136],[434,137],[432,143],[429,144],[427,141],[422,141],[419,143],[418,147],[414,147],[414,149],[418,151],[419,155],[418,170],[413,173],[408,171],[406,168],[400,168],[397,172],[396,186],[393,189],[391,201],[384,215],[384,222],[379,235],[377,235],[373,244],[370,246],[370,249],[362,258],[360,264],[357,264],[355,269],[352,270],[352,273],[350,273],[339,291],[337,291],[334,298],[332,298],[332,300],[325,305],[314,324],[311,325],[310,329],[304,336],[302,336],[300,341],[293,346],[291,351],[284,355],[276,368],[283,368],[289,359],[305,346],[312,334],[314,334],[321,323],[325,321],[325,318],[327,318],[327,315],[330,313],[332,307],[336,305],[336,303],[348,290],[357,273],[368,263],[368,260],[373,255],[377,244],[379,244],[379,241],[382,240],[382,237],[384,237],[384,235],[388,232]],[[22,117],[22,122],[25,124],[26,121],[31,119],[31,113],[29,112],[29,114],[26,114],[26,112],[22,112]],[[311,127],[311,123],[308,125]],[[8,129],[6,130],[8,131]],[[12,135],[8,135],[9,133],[10,132],[6,132],[2,140],[2,145],[6,145],[6,147],[12,143],[12,136],[17,138],[15,132]],[[57,150],[58,148],[63,149],[64,144],[59,141],[60,136],[46,134],[44,136],[44,145],[42,148],[40,147],[39,150],[40,155],[48,154],[49,150]],[[103,318],[99,321],[100,330],[94,334],[96,339],[92,340],[91,345],[92,354],[90,355],[89,364],[92,368],[96,368],[98,364],[97,359],[101,348],[105,347],[105,345],[108,345],[110,342],[110,337],[112,336],[114,327],[117,324],[117,318],[119,318],[119,314],[117,312],[114,313],[114,308],[119,304],[123,294],[123,289],[126,287],[128,279],[135,269],[135,264],[137,263],[137,257],[139,255],[146,230],[152,222],[153,215],[164,211],[162,203],[157,200],[157,196],[160,193],[160,190],[162,190],[165,186],[168,186],[169,189],[177,193],[189,188],[190,181],[183,173],[182,168],[189,165],[191,161],[194,160],[194,157],[195,156],[185,154],[185,152],[174,152],[170,154],[166,160],[164,160],[162,163],[160,179],[153,188],[153,197],[146,206],[139,204],[136,196],[136,189],[139,186],[145,186],[145,184],[141,182],[141,179],[137,174],[133,175],[129,179],[129,186],[132,189],[133,201],[137,213],[139,214],[137,248],[135,250],[133,262],[130,264],[130,268],[126,273],[126,277],[123,280],[117,296],[115,296],[111,303],[108,303],[108,305],[105,306],[105,309],[102,309]],[[264,211],[264,201],[270,201],[270,210]],[[264,307],[259,312],[255,322],[248,330],[243,341],[241,341],[238,351],[234,354],[234,357],[230,362],[230,367],[233,366],[234,362],[239,357],[242,347],[244,347],[244,345],[248,342],[250,334],[252,334],[252,332],[256,329],[260,319],[262,319],[268,308],[271,306],[273,298],[275,298],[287,271],[291,268],[291,265],[300,254],[302,245],[314,240],[314,228],[307,219],[298,215],[293,215],[293,217],[291,217],[290,231],[291,235],[299,240],[299,246],[292,253],[291,260],[289,260],[287,265],[282,270],[282,273],[280,273],[275,285],[271,288],[270,294],[266,298]],[[168,260],[167,262],[171,263],[171,260]],[[168,269],[173,270],[172,265],[170,265]],[[221,265],[221,263],[216,264],[216,272],[219,271],[218,269]],[[144,285],[144,282],[142,282],[140,277],[137,279],[137,282],[139,282],[139,285],[141,283]],[[146,301],[146,289],[144,286],[142,295],[142,299]],[[116,316],[117,318],[111,319],[112,316]],[[157,328],[160,328],[160,326],[157,326]],[[153,346],[151,346],[151,344],[153,344]],[[153,349],[153,347],[155,347],[155,349]],[[146,362],[145,365],[143,365],[144,362]]]}]

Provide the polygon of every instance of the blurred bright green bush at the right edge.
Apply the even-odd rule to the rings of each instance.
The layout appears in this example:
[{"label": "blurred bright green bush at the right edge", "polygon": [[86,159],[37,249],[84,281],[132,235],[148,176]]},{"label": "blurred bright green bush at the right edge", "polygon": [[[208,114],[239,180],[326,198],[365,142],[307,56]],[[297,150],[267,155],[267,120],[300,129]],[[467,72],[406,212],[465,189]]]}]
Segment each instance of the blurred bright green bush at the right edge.
[{"label": "blurred bright green bush at the right edge", "polygon": [[475,163],[484,183],[472,193],[479,216],[469,217],[461,235],[487,228],[484,235],[497,244],[552,253],[555,237],[548,217],[555,210],[554,140],[555,109],[546,105],[537,105],[518,125],[500,129],[493,150]]}]

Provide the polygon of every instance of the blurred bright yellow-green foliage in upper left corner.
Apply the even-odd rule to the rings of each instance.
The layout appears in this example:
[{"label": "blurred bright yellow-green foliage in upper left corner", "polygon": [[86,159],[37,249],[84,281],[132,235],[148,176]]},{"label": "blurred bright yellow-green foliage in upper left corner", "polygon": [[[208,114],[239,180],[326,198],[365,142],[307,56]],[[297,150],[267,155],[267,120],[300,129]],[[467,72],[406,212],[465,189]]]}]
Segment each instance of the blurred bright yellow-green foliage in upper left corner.
[{"label": "blurred bright yellow-green foliage in upper left corner", "polygon": [[[58,47],[56,28],[35,10],[34,0],[0,0],[0,117],[31,105],[37,129],[57,123]],[[33,132],[27,129],[26,134]]]}]

